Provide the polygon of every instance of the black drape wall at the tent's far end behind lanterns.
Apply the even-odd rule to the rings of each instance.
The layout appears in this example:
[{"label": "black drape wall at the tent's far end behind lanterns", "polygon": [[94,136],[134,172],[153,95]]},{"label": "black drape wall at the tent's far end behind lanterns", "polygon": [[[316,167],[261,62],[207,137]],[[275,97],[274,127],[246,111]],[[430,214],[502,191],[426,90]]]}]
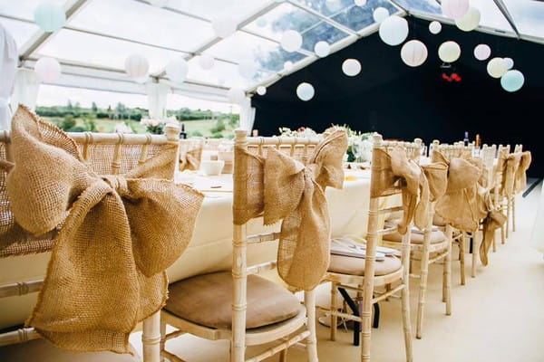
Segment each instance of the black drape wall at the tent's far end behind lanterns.
[{"label": "black drape wall at the tent's far end behind lanterns", "polygon": [[[410,68],[400,58],[401,46],[383,43],[377,33],[340,52],[314,62],[270,86],[265,96],[252,99],[257,108],[255,129],[261,135],[277,134],[279,127],[311,127],[317,131],[348,124],[362,131],[375,130],[384,138],[423,138],[442,142],[461,140],[465,131],[483,143],[516,144],[531,150],[532,176],[544,176],[544,45],[501,36],[470,32],[443,25],[432,35],[428,22],[410,18],[410,39],[427,45],[423,66]],[[453,65],[460,82],[441,78],[437,50],[447,40],[461,45],[461,59]],[[486,71],[487,62],[473,56],[474,46],[487,43],[491,57],[510,57],[514,69],[525,75],[525,85],[515,93],[502,90],[500,80]],[[363,66],[358,76],[346,77],[341,64],[356,58]],[[301,81],[312,83],[314,99],[296,98]]]}]

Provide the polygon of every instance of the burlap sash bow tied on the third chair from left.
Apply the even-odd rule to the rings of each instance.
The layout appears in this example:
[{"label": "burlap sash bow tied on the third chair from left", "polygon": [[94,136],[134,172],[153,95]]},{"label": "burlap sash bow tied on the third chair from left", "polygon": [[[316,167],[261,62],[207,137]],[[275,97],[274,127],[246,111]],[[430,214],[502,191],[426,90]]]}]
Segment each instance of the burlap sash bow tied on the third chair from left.
[{"label": "burlap sash bow tied on the third chair from left", "polygon": [[394,186],[401,187],[403,219],[398,232],[405,234],[412,220],[423,230],[429,222],[430,203],[445,192],[445,165],[433,163],[420,167],[406,156],[404,148],[396,147],[390,151],[374,148],[372,168],[375,178],[370,189],[372,197],[388,195]]}]

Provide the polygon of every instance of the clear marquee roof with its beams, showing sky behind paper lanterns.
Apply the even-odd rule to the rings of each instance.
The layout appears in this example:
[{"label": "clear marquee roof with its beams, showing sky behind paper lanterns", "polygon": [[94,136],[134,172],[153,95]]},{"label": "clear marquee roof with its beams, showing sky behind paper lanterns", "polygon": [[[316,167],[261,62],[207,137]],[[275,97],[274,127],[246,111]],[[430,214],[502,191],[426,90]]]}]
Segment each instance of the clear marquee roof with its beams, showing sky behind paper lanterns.
[{"label": "clear marquee roof with its beams, showing sky behind paper lanterns", "polygon": [[[33,68],[42,56],[63,67],[58,85],[95,90],[145,93],[145,87],[124,72],[124,62],[140,53],[150,62],[151,78],[166,82],[180,94],[225,100],[231,87],[253,91],[318,59],[314,46],[331,44],[331,52],[374,33],[377,7],[390,14],[452,24],[442,15],[439,0],[168,0],[164,7],[145,0],[49,0],[62,5],[67,21],[55,33],[34,24],[34,9],[43,0],[0,0],[0,24],[15,36],[21,66]],[[157,1],[157,0],[155,0]],[[481,12],[477,31],[544,43],[544,2],[540,0],[471,0]],[[236,18],[238,30],[226,39],[213,32],[211,19]],[[282,33],[296,30],[302,48],[286,52]],[[199,55],[212,55],[205,71]],[[187,81],[171,83],[166,64],[183,56],[189,62]],[[259,70],[253,79],[238,74],[238,63],[252,60]],[[292,68],[285,62],[293,62]]]}]

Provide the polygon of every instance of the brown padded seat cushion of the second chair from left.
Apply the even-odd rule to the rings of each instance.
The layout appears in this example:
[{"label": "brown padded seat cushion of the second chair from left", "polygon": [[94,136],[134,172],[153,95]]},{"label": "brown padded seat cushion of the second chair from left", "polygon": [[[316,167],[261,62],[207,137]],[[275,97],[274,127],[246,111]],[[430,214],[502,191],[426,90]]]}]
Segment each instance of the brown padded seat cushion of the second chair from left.
[{"label": "brown padded seat cushion of the second chair from left", "polygon": [[[232,274],[198,275],[169,286],[165,310],[190,322],[214,329],[232,327]],[[246,328],[255,329],[295,317],[300,301],[291,292],[257,275],[248,275]]]}]

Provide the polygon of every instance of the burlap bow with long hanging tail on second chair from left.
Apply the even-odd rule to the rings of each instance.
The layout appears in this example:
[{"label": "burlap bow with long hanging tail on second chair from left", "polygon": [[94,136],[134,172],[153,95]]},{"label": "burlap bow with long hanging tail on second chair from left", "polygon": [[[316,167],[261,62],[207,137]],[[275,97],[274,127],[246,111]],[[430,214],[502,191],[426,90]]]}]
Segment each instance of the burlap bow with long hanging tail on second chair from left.
[{"label": "burlap bow with long hanging tail on second chair from left", "polygon": [[276,148],[269,148],[267,157],[235,150],[235,167],[239,167],[238,159],[247,161],[248,179],[244,182],[254,185],[248,188],[250,195],[235,199],[235,224],[245,224],[260,214],[264,224],[283,220],[277,270],[296,289],[314,289],[327,270],[331,227],[325,187],[343,187],[346,149],[345,131],[335,130],[317,145],[307,165]]}]

